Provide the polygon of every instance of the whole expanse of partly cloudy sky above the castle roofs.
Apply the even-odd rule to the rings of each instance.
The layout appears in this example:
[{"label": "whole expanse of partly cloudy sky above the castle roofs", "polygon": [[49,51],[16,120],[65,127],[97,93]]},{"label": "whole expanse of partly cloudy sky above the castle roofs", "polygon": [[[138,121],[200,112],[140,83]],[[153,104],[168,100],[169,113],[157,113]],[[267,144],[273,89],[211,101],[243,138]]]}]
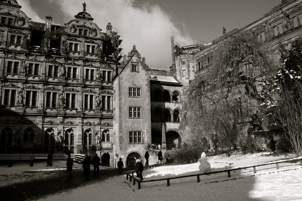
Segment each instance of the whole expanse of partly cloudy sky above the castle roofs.
[{"label": "whole expanse of partly cloudy sky above the castle roofs", "polygon": [[35,22],[53,17],[53,24],[64,25],[83,10],[94,23],[106,31],[113,28],[123,33],[124,54],[136,45],[146,64],[168,67],[171,62],[171,36],[175,42],[202,40],[210,43],[229,32],[263,17],[281,0],[18,0]]}]

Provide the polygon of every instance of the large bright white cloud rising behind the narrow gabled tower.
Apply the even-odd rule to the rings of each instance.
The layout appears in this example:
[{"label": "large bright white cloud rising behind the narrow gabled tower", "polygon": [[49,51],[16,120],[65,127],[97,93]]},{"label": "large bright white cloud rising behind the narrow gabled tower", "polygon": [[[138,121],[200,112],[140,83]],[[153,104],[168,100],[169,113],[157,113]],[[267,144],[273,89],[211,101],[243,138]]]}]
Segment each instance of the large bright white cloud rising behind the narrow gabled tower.
[{"label": "large bright white cloud rising behind the narrow gabled tower", "polygon": [[[74,0],[49,0],[58,5],[65,15],[65,23],[74,19],[82,11],[82,2]],[[86,12],[104,30],[111,22],[114,28],[123,33],[124,54],[136,45],[137,50],[146,58],[148,65],[168,67],[171,61],[171,36],[191,41],[188,33],[182,33],[176,23],[158,5],[148,4],[137,8],[133,0],[86,0]]]}]

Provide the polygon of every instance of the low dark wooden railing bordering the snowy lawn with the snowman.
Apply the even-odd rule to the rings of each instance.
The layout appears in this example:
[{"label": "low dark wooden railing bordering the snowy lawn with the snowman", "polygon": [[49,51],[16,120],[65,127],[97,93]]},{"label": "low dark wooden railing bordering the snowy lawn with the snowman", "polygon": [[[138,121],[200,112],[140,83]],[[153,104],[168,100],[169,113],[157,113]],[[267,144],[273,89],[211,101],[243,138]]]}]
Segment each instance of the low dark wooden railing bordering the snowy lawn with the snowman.
[{"label": "low dark wooden railing bordering the snowy lawn with the snowman", "polygon": [[247,167],[242,167],[242,168],[226,169],[226,170],[222,170],[222,171],[206,172],[206,173],[201,173],[201,174],[185,175],[185,176],[154,179],[154,180],[144,180],[144,181],[141,181],[141,180],[138,180],[137,178],[135,178],[134,177],[134,171],[133,171],[131,174],[129,174],[129,173],[126,174],[126,180],[128,180],[128,177],[129,177],[130,182],[133,179],[133,186],[137,182],[138,189],[140,189],[140,187],[141,187],[140,183],[167,180],[167,186],[170,186],[170,180],[171,179],[179,179],[179,178],[184,178],[184,177],[197,177],[197,183],[199,183],[200,182],[199,176],[201,176],[201,175],[210,175],[210,174],[217,174],[217,173],[227,172],[228,177],[231,177],[231,171],[236,171],[236,170],[241,170],[241,169],[246,169],[246,168],[253,168],[254,173],[256,173],[257,172],[256,167],[260,167],[260,166],[264,166],[264,165],[273,165],[273,164],[276,164],[276,169],[278,170],[279,169],[279,163],[295,162],[295,161],[299,161],[300,166],[302,166],[302,159],[300,159],[300,158],[299,159],[288,159],[288,160],[284,160],[284,161],[281,161],[281,162],[269,162],[269,163],[265,163],[265,164],[261,164],[261,165],[252,165],[252,166],[247,166]]}]

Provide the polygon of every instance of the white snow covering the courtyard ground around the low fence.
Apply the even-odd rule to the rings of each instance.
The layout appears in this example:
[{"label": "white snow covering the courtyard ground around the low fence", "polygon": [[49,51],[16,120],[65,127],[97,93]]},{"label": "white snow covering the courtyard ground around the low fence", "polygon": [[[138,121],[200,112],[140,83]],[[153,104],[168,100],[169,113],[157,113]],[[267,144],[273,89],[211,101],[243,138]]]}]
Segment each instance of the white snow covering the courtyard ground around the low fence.
[{"label": "white snow covering the courtyard ground around the low fence", "polygon": [[[211,171],[217,171],[292,158],[294,155],[283,152],[274,155],[257,153],[229,158],[213,156],[208,157],[208,162],[211,164]],[[14,165],[12,168],[0,167],[0,180],[4,181],[3,177],[10,179],[10,175],[24,171],[25,173],[22,174],[26,174],[27,171],[35,171],[35,177],[40,177],[45,172],[55,174],[58,168],[65,168],[65,163],[55,161],[53,167],[50,168],[45,167],[45,163],[43,165],[35,164],[34,167],[28,167],[28,164],[18,167]],[[199,165],[200,163],[197,162],[146,170],[143,171],[144,181],[198,174]],[[137,184],[133,186],[129,179],[126,181],[125,175],[116,175],[99,183],[50,195],[40,200],[302,200],[302,169],[299,163],[280,163],[279,167],[278,170],[275,165],[257,167],[256,174],[254,174],[253,168],[233,171],[230,178],[227,177],[227,173],[202,175],[200,183],[197,183],[196,177],[173,179],[170,180],[169,187],[167,187],[166,181],[147,182],[141,183],[140,190],[138,190]],[[80,168],[80,165],[75,163],[74,168]],[[33,174],[31,173],[31,175]],[[17,182],[17,180],[14,178],[13,181]]]}]

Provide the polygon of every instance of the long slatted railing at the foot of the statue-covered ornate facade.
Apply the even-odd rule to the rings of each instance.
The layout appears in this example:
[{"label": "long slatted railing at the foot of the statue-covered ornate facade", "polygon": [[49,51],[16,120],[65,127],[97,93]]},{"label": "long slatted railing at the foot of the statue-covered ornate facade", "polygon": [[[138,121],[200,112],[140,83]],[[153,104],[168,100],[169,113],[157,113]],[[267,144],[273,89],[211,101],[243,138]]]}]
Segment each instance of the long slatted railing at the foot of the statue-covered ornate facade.
[{"label": "long slatted railing at the foot of the statue-covered ornate facade", "polygon": [[[0,154],[0,160],[46,160],[48,154]],[[67,160],[66,154],[53,154],[53,160]],[[76,163],[82,163],[85,158],[84,154],[71,154],[71,158]]]}]

